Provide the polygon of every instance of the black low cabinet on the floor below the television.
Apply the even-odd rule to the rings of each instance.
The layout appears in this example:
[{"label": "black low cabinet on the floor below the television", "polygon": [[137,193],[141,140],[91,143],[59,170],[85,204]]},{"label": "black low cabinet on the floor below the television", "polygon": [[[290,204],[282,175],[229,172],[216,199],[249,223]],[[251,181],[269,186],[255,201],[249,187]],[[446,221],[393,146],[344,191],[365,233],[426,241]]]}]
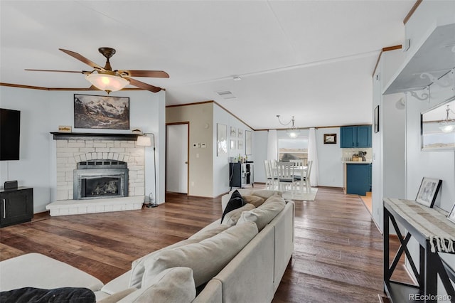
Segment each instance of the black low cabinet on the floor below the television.
[{"label": "black low cabinet on the floor below the television", "polygon": [[33,188],[0,191],[0,227],[28,222],[33,218]]}]

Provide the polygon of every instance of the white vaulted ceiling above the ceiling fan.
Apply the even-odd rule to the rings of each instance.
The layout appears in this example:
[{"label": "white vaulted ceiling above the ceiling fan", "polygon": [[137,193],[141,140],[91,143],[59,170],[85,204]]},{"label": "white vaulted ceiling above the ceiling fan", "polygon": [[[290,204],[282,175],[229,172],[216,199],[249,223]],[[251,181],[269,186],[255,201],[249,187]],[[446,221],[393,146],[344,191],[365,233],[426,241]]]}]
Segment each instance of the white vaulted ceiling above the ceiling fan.
[{"label": "white vaulted ceiling above the ceiling fan", "polygon": [[[166,89],[166,104],[215,100],[254,129],[372,122],[380,50],[400,45],[415,0],[395,1],[0,1],[0,81],[89,87],[97,48],[113,69],[165,70],[137,78]],[[233,80],[233,76],[242,80]],[[229,90],[224,100],[216,92]]]}]

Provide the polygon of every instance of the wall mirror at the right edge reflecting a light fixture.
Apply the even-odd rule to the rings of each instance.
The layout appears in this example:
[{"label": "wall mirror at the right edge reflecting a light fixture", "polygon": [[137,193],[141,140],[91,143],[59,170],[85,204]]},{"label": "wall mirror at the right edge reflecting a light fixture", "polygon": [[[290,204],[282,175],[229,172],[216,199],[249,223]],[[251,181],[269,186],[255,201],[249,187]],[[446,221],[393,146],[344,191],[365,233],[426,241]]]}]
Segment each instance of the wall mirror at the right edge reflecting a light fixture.
[{"label": "wall mirror at the right edge reflecting a light fixture", "polygon": [[422,151],[455,150],[455,97],[421,115]]}]

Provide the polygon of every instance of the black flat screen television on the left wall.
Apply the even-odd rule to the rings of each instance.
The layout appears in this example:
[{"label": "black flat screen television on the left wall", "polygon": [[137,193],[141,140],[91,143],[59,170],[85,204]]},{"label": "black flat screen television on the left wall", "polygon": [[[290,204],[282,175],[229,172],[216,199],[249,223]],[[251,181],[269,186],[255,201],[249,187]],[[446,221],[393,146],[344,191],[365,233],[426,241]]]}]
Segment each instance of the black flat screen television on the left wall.
[{"label": "black flat screen television on the left wall", "polygon": [[0,108],[0,161],[19,159],[21,112]]}]

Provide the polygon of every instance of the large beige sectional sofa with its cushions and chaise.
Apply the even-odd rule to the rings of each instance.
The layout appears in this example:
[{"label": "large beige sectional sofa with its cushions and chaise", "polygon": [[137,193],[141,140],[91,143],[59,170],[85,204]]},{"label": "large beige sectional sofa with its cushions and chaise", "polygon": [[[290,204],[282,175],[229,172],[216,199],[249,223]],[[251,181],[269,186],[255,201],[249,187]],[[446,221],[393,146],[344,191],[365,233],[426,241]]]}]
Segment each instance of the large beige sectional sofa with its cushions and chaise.
[{"label": "large beige sectional sofa with its cushions and chaise", "polygon": [[[216,220],[187,240],[135,260],[132,270],[106,285],[63,262],[28,254],[0,262],[0,290],[87,287],[103,303],[271,302],[294,251],[294,202],[285,202],[279,191],[239,192],[264,203],[248,203],[228,213],[223,224]],[[231,193],[222,197],[223,210]],[[40,274],[43,268],[48,270]],[[60,273],[58,280],[53,271]]]}]

